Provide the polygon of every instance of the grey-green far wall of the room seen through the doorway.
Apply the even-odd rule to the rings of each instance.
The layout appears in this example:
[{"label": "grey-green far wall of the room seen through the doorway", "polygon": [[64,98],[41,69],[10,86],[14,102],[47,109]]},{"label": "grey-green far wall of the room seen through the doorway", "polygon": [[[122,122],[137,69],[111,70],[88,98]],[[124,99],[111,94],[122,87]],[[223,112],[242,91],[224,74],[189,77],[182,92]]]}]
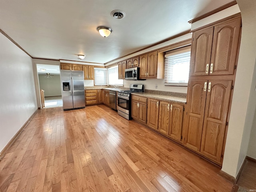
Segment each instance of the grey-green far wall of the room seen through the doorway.
[{"label": "grey-green far wall of the room seen through the doorway", "polygon": [[45,78],[45,75],[38,75],[40,89],[44,90],[45,97],[61,96],[60,75]]}]

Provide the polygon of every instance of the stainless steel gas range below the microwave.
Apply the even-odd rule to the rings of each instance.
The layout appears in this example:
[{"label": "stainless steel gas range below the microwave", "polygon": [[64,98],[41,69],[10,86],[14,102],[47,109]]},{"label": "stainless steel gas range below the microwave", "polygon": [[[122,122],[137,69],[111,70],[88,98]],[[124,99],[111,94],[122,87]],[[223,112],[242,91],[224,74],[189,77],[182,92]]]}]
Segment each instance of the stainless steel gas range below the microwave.
[{"label": "stainless steel gas range below the microwave", "polygon": [[143,92],[144,85],[130,84],[130,90],[119,91],[117,94],[118,99],[118,114],[128,120],[131,119],[131,103],[133,92]]}]

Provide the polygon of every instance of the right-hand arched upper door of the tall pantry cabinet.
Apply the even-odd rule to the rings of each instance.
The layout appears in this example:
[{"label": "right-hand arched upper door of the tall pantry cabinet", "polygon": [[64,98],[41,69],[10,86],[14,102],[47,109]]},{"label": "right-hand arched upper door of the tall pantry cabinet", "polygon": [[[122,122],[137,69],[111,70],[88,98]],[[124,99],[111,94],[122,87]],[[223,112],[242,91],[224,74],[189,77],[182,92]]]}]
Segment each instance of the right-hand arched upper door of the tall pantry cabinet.
[{"label": "right-hand arched upper door of the tall pantry cabinet", "polygon": [[213,71],[210,75],[234,74],[240,24],[241,18],[236,18],[215,26],[211,57]]}]

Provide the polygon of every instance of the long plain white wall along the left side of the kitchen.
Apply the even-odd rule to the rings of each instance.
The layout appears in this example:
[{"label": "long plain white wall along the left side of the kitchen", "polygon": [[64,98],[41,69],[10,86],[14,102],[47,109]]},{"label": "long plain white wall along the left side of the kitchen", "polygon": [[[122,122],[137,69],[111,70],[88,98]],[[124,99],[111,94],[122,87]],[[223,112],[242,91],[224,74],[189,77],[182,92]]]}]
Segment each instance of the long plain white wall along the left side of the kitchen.
[{"label": "long plain white wall along the left side of the kitchen", "polygon": [[0,33],[0,151],[37,110],[32,58]]}]

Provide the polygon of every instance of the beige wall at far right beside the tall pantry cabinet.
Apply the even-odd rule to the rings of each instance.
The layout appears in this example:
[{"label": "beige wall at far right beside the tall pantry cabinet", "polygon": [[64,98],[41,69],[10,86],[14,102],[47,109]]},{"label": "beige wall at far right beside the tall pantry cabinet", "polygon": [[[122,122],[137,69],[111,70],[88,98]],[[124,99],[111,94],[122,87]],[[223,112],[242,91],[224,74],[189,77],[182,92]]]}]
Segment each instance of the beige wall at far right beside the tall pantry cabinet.
[{"label": "beige wall at far right beside the tall pantry cabinet", "polygon": [[[248,151],[250,133],[255,133],[256,108],[256,1],[237,0],[242,14],[242,39],[230,112],[230,123],[222,170],[236,177]],[[255,134],[251,140],[255,140]],[[248,153],[256,157],[255,143],[250,143]],[[254,150],[254,152],[252,152]]]}]

